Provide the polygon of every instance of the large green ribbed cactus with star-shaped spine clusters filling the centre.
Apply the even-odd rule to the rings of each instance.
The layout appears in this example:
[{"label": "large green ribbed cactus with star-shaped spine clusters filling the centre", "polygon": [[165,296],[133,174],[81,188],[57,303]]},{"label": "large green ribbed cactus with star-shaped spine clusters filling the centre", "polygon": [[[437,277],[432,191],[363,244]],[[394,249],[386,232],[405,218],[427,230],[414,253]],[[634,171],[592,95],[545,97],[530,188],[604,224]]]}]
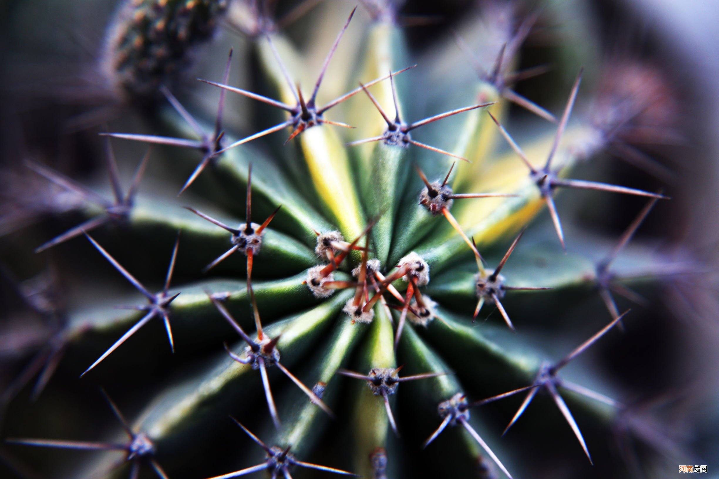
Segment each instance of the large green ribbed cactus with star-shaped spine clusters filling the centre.
[{"label": "large green ribbed cactus with star-shaped spine clusters filling the centre", "polygon": [[[517,90],[543,73],[520,68],[523,44],[538,22],[568,14],[561,2],[541,11],[478,2],[479,18],[419,53],[403,31],[412,1],[326,2],[308,14],[317,2],[279,2],[280,13],[274,3],[121,2],[96,67],[116,101],[140,108],[101,132],[111,199],[26,161],[45,182],[25,193],[44,200],[27,204],[47,204],[53,222],[13,231],[22,260],[6,258],[9,282],[42,319],[29,347],[37,355],[3,394],[8,470],[198,479],[526,478],[550,463],[566,463],[569,476],[654,470],[667,451],[629,426],[628,391],[596,364],[574,365],[634,328],[624,300],[644,299],[630,286],[651,293],[697,270],[629,244],[668,201],[654,187],[672,173],[633,145],[668,128],[648,107],[654,96],[597,81],[588,28],[564,29],[550,49],[557,91],[535,102]],[[583,2],[565,3],[585,19]],[[243,36],[221,40],[223,24]],[[300,53],[286,29],[317,45]],[[234,47],[226,62],[223,41]],[[191,87],[186,70],[200,56],[221,62],[201,71],[193,104],[175,88]],[[510,120],[511,103],[523,122]],[[154,146],[125,192],[121,171],[138,143]],[[606,149],[659,183],[574,179],[598,175]],[[618,193],[623,209],[632,197],[646,203],[618,240],[565,234],[574,193],[564,189]],[[77,198],[72,215],[52,200],[66,192]],[[16,279],[32,270],[23,262],[37,265],[24,260],[36,247],[63,265],[40,288]],[[129,291],[119,299],[117,273],[147,304]],[[68,274],[91,290],[65,306]],[[93,275],[111,286],[90,284]],[[155,283],[160,293],[145,286]],[[571,380],[560,375],[569,364]],[[105,394],[120,422],[105,424],[98,386],[133,420]],[[613,455],[617,429],[643,450]],[[546,442],[539,454],[549,459],[522,459],[533,442]]]}]

